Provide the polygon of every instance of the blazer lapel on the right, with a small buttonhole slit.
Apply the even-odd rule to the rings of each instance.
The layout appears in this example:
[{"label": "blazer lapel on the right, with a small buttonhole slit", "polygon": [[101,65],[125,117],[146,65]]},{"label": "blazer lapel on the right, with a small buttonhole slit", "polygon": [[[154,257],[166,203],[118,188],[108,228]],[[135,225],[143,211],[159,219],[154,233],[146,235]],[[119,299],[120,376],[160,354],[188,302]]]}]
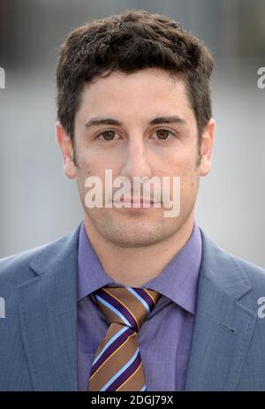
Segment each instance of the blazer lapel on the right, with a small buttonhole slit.
[{"label": "blazer lapel on the right, with a small buttonhole slit", "polygon": [[235,390],[256,314],[240,302],[246,273],[201,231],[202,261],[185,390]]}]

